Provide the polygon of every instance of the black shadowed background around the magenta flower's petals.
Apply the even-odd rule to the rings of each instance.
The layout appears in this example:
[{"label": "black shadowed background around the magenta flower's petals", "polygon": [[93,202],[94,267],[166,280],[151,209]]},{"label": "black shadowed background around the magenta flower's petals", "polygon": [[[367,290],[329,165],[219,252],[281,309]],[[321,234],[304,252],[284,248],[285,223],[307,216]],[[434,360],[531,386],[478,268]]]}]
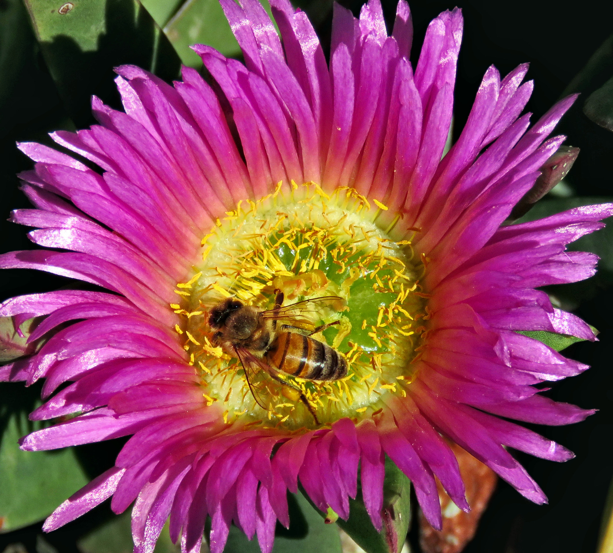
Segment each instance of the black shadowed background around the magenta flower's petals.
[{"label": "black shadowed background around the magenta flower's petals", "polygon": [[[0,0],[0,10],[3,9]],[[343,4],[357,15],[362,2]],[[468,116],[481,77],[490,64],[504,75],[520,63],[530,62],[528,79],[535,80],[535,92],[527,109],[535,114],[533,121],[563,94],[592,53],[613,33],[613,2],[584,0],[581,2],[549,2],[543,0],[459,1],[465,18],[465,30],[458,78],[455,87],[455,129],[461,130]],[[454,7],[443,0],[411,2],[415,28],[413,58],[432,18]],[[321,10],[320,10],[321,11]],[[326,10],[324,10],[326,11]],[[384,11],[393,21],[395,2],[385,1]],[[330,17],[323,17],[318,31],[322,40],[329,40]],[[0,236],[2,251],[29,249],[26,229],[7,223],[10,209],[28,207],[17,190],[18,171],[31,168],[31,162],[15,149],[15,141],[47,141],[44,131],[66,125],[64,109],[48,75],[36,45],[26,44],[23,60],[16,60],[20,78],[0,106]],[[607,75],[606,80],[611,74]],[[601,84],[601,83],[600,83]],[[596,83],[598,85],[598,83]],[[592,87],[593,88],[593,87]],[[581,112],[591,90],[584,92],[573,110],[566,115],[558,131],[568,135],[567,144],[581,148],[581,154],[568,177],[578,196],[613,196],[611,162],[613,134],[596,126]],[[116,98],[103,98],[115,103]],[[36,271],[9,270],[0,272],[2,299],[21,293],[44,292],[67,284],[66,279]],[[588,300],[582,301],[576,313],[601,331],[600,342],[582,342],[571,346],[565,354],[592,365],[581,376],[554,384],[547,392],[558,401],[575,403],[582,408],[600,411],[583,423],[570,427],[535,427],[547,438],[562,443],[577,457],[567,463],[552,463],[519,455],[528,472],[543,487],[549,505],[536,506],[524,500],[501,482],[485,512],[474,541],[466,553],[593,553],[601,522],[607,489],[613,473],[613,377],[611,376],[611,288],[600,285]],[[110,449],[115,449],[113,444]],[[112,463],[112,455],[104,446],[91,446],[96,451],[99,471]],[[101,515],[102,516],[102,515]],[[91,518],[91,517],[90,517]],[[91,524],[85,517],[66,530],[46,538],[58,551],[77,551],[74,538]],[[0,536],[0,551],[6,544],[22,541],[35,551],[39,527],[18,530]],[[416,530],[409,539],[416,543]],[[418,549],[414,545],[414,551]]]}]

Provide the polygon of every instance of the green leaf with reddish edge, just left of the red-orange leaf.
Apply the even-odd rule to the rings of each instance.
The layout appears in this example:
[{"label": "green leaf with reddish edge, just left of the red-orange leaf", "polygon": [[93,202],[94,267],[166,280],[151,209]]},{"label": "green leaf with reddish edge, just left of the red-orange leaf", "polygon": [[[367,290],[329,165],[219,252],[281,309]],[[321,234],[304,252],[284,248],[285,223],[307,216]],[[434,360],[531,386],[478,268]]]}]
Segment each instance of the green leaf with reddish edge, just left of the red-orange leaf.
[{"label": "green leaf with reddish edge, just left of the red-orange leaf", "polygon": [[[305,493],[305,492],[303,492]],[[321,517],[327,513],[317,511]],[[356,499],[349,499],[349,519],[337,523],[367,553],[398,553],[411,522],[411,482],[386,456],[383,482],[383,530],[377,532],[368,516],[358,480]]]}]

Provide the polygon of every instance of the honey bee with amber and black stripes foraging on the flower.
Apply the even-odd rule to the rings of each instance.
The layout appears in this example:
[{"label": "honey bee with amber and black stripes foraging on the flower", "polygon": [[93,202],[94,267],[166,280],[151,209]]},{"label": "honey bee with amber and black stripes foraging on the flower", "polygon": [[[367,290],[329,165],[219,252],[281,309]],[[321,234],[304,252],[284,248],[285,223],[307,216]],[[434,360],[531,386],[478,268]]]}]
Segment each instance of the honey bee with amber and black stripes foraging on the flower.
[{"label": "honey bee with amber and black stripes foraging on the flower", "polygon": [[[300,325],[310,324],[305,314],[321,307],[344,304],[338,296],[325,296],[299,301],[283,307],[284,295],[275,290],[275,307],[262,311],[228,298],[213,307],[208,324],[215,330],[213,341],[230,355],[236,355],[245,369],[245,377],[257,404],[265,409],[251,384],[251,371],[262,370],[273,380],[299,392],[315,422],[319,420],[313,406],[294,384],[279,373],[310,381],[335,381],[347,375],[347,361],[343,354],[311,335],[321,332],[338,321],[307,330]],[[310,325],[311,327],[313,325]]]}]

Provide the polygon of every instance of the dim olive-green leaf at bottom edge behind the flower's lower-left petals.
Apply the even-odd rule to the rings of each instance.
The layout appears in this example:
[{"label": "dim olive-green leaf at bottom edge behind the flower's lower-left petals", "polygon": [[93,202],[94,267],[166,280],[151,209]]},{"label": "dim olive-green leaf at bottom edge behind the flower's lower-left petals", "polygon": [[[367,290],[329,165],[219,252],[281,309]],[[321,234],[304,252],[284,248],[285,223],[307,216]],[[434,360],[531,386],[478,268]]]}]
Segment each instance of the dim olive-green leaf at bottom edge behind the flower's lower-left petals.
[{"label": "dim olive-green leaf at bottom edge behind the flower's lower-left petals", "polygon": [[[81,553],[132,553],[131,512],[128,510],[113,516],[95,530],[87,533],[77,542]],[[178,553],[179,544],[170,541],[168,522],[162,528],[162,533],[156,543],[154,553]]]}]

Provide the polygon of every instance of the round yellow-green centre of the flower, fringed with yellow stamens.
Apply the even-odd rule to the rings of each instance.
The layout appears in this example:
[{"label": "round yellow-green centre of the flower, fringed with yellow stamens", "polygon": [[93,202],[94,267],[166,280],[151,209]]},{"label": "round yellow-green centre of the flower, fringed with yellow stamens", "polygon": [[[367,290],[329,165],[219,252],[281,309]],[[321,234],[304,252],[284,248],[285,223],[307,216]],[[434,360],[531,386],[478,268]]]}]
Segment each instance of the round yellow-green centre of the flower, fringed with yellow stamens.
[{"label": "round yellow-green centre of the flower, fringed with yellow stamens", "polygon": [[177,332],[227,423],[359,420],[413,378],[428,296],[411,241],[379,228],[378,201],[304,187],[283,195],[280,184],[227,212],[202,240],[194,277],[177,285]]}]

